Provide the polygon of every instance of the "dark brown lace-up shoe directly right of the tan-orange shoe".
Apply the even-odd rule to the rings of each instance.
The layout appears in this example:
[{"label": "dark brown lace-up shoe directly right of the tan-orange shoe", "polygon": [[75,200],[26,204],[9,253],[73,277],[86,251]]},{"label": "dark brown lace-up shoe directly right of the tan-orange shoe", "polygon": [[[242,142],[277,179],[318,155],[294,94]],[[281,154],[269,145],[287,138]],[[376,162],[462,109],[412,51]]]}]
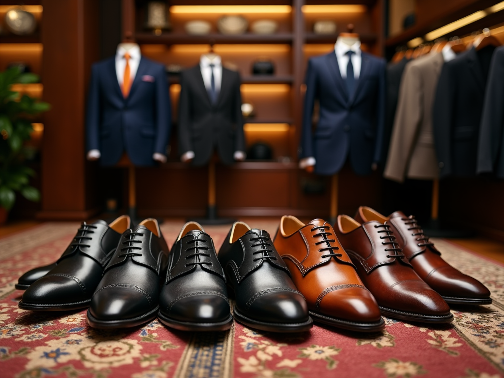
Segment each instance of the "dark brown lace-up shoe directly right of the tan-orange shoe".
[{"label": "dark brown lace-up shoe directly right of the tan-orange shoe", "polygon": [[339,215],[335,231],[383,315],[409,322],[453,320],[445,300],[405,259],[389,224],[371,221],[361,225],[348,215]]}]

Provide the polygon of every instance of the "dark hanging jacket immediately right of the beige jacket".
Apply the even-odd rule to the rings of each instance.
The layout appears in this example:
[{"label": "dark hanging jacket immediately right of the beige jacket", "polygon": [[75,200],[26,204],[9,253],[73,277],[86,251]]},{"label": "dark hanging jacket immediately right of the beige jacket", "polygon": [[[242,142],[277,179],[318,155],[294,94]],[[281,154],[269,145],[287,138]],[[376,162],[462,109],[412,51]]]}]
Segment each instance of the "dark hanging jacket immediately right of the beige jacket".
[{"label": "dark hanging jacket immediately right of the beige jacket", "polygon": [[439,176],[474,176],[486,79],[495,47],[462,52],[443,66],[432,125]]}]

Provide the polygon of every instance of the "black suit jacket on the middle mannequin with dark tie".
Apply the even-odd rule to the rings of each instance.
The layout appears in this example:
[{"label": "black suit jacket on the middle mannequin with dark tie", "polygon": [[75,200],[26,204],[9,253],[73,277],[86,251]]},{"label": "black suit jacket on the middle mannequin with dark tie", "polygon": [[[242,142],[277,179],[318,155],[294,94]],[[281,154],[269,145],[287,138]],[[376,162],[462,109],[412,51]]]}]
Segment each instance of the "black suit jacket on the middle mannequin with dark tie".
[{"label": "black suit jacket on the middle mannequin with dark tie", "polygon": [[222,68],[217,102],[212,104],[200,65],[180,75],[178,111],[179,153],[194,151],[193,165],[205,165],[217,148],[224,164],[233,164],[235,151],[245,151],[241,115],[240,76]]}]

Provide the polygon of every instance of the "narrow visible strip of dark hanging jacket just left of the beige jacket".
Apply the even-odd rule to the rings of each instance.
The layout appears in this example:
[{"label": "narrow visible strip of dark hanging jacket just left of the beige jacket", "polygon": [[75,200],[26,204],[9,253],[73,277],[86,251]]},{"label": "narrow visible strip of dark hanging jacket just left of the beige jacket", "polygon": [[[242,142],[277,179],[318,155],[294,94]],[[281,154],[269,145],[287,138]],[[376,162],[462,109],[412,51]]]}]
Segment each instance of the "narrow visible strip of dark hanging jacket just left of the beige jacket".
[{"label": "narrow visible strip of dark hanging jacket just left of the beige jacket", "polygon": [[387,105],[385,111],[385,130],[383,137],[382,161],[387,160],[390,148],[390,139],[392,137],[392,128],[394,127],[394,117],[396,115],[397,102],[399,101],[399,87],[403,77],[404,69],[410,59],[403,57],[395,63],[387,65],[386,83],[387,83]]}]

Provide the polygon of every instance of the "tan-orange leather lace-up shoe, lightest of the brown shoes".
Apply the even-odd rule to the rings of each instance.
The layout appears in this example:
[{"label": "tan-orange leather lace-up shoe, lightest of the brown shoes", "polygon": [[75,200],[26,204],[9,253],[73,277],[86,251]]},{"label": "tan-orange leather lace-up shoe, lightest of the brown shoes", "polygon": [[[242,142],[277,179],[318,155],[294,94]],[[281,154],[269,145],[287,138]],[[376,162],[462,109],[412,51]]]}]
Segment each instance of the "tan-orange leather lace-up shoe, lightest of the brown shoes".
[{"label": "tan-orange leather lace-up shoe, lightest of the brown shoes", "polygon": [[385,328],[376,300],[362,284],[329,223],[315,219],[305,225],[285,215],[274,245],[314,321],[361,332]]}]

